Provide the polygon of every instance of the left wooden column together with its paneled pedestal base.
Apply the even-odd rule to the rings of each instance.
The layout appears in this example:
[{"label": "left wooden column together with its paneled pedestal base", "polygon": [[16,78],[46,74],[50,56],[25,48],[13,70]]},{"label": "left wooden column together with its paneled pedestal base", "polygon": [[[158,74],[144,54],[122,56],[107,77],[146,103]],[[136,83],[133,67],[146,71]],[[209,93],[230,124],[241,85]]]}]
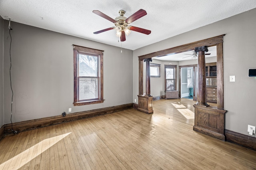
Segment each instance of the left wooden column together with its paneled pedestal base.
[{"label": "left wooden column together with its paneled pedestal base", "polygon": [[152,61],[151,58],[144,59],[146,62],[146,95],[138,95],[138,111],[147,114],[153,113],[153,96],[150,94],[150,61]]}]

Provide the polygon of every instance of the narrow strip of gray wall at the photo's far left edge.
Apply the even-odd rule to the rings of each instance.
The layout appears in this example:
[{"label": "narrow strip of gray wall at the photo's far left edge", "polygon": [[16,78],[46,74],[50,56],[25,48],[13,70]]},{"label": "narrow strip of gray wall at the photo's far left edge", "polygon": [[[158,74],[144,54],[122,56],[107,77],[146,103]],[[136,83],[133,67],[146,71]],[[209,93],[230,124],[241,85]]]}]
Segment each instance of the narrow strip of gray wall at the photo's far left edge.
[{"label": "narrow strip of gray wall at the photo's far left edge", "polygon": [[0,16],[0,127],[4,125],[4,41],[3,41],[4,19]]}]

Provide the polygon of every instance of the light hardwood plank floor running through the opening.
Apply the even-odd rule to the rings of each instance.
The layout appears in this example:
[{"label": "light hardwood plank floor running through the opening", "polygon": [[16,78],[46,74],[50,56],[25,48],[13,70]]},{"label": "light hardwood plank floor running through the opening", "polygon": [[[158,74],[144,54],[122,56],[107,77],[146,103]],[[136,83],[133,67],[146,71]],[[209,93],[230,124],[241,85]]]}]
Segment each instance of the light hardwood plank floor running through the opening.
[{"label": "light hardwood plank floor running through the opening", "polygon": [[154,114],[129,109],[9,135],[0,169],[256,169],[256,151],[193,131],[194,101],[154,101]]}]

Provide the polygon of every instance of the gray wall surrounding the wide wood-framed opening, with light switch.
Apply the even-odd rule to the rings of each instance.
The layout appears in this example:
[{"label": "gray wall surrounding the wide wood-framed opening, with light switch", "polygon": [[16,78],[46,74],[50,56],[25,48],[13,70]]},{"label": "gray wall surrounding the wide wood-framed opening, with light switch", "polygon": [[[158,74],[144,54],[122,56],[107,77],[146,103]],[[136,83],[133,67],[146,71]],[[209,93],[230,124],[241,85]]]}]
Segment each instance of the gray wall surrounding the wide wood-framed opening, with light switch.
[{"label": "gray wall surrounding the wide wood-framed opening, with light switch", "polygon": [[[256,67],[255,16],[256,8],[134,50],[133,97],[138,95],[138,56],[226,34],[223,44],[224,109],[228,111],[225,128],[248,134],[248,125],[256,126],[256,79],[247,77],[248,68]],[[229,82],[230,75],[236,76],[236,82]]]}]

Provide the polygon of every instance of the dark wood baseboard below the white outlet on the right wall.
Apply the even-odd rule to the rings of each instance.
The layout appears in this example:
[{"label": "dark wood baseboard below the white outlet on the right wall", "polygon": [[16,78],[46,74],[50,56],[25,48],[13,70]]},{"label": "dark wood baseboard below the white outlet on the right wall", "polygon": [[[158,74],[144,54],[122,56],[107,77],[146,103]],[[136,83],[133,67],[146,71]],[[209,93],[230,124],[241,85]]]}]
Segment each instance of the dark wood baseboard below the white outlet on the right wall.
[{"label": "dark wood baseboard below the white outlet on the right wall", "polygon": [[226,141],[256,150],[256,138],[225,129]]}]

